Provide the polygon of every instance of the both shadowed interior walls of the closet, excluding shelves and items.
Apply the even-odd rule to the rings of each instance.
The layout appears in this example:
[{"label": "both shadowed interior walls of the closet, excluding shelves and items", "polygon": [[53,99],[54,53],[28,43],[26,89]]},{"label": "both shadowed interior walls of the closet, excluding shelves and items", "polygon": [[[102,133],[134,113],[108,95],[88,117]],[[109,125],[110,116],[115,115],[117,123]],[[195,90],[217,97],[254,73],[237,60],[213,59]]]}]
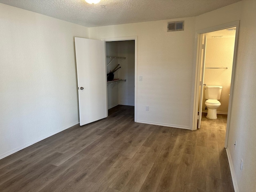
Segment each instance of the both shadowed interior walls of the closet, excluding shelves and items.
[{"label": "both shadowed interior walls of the closet, excluding shelves and items", "polygon": [[[108,84],[108,109],[119,105],[134,106],[134,75],[135,75],[135,42],[114,41],[106,42],[106,55],[125,57],[126,59],[114,59],[107,66],[107,73],[118,64],[120,69],[114,74],[114,78],[124,79],[126,82],[113,82]],[[111,61],[107,58],[107,64]]]}]

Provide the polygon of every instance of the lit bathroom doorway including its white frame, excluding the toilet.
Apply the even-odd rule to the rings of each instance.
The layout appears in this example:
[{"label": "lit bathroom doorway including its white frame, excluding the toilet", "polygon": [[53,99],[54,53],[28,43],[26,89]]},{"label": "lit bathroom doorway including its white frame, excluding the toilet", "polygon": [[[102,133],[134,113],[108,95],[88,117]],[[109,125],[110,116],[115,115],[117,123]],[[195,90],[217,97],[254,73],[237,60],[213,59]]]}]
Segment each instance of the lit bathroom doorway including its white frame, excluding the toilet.
[{"label": "lit bathroom doorway including its white frame, excluding the toilet", "polygon": [[[198,51],[192,127],[193,130],[201,126],[206,128],[207,125],[216,127],[216,122],[218,122],[218,129],[224,131],[224,138],[226,138],[225,148],[230,119],[228,111],[232,107],[238,26],[239,22],[233,22],[197,33]],[[208,109],[205,105],[205,84],[207,86],[222,86],[222,93],[218,100],[221,105],[216,110],[217,119],[215,120],[206,118]]]}]

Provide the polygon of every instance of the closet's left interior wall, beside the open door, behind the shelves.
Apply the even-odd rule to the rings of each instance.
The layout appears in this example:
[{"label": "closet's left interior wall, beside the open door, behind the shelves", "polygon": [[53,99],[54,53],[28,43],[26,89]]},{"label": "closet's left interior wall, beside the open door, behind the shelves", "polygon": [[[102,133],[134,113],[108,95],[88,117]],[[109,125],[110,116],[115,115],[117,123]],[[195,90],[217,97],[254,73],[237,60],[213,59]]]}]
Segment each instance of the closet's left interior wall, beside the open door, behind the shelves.
[{"label": "closet's left interior wall, beside the open door, behind the shelves", "polygon": [[[118,42],[106,42],[106,55],[107,56],[118,56]],[[107,64],[110,63],[112,59],[107,58]],[[118,64],[118,60],[114,59],[112,62],[107,66],[107,73],[112,71]],[[118,78],[118,73],[115,73],[114,78]],[[118,84],[117,83],[109,83],[108,84],[108,109],[118,105]]]}]

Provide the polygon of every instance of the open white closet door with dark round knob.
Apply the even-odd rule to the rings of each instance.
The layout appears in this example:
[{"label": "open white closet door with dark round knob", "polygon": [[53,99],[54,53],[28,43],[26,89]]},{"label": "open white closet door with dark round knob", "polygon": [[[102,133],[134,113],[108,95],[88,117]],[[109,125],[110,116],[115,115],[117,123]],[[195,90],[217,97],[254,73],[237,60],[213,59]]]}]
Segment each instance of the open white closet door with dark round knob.
[{"label": "open white closet door with dark round knob", "polygon": [[75,37],[80,126],[106,118],[105,42]]}]

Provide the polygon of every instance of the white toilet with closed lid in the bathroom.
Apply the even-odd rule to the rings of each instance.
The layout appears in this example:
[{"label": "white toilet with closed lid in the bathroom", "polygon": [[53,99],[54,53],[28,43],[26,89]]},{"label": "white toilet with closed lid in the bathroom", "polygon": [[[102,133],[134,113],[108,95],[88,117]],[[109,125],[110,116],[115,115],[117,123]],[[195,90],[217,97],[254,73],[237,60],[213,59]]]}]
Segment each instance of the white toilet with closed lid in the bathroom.
[{"label": "white toilet with closed lid in the bathroom", "polygon": [[222,86],[205,85],[204,90],[205,98],[207,99],[205,105],[208,108],[206,117],[208,119],[216,119],[217,108],[220,106],[218,99],[220,99]]}]

